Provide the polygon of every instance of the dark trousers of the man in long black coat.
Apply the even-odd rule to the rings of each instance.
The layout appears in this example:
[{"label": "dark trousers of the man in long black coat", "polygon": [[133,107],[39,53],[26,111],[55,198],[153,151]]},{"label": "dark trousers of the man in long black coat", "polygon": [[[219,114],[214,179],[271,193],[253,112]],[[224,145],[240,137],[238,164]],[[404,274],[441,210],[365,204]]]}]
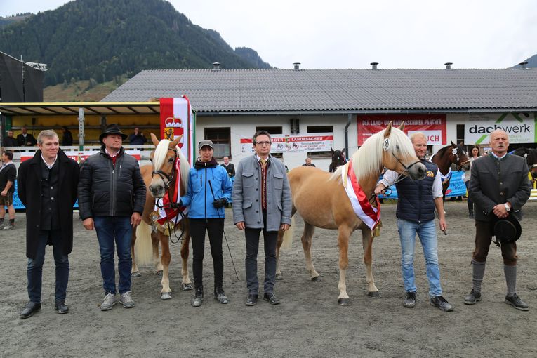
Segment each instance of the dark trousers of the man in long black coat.
[{"label": "dark trousers of the man in long black coat", "polygon": [[54,264],[56,266],[56,300],[65,300],[67,282],[69,281],[69,258],[63,254],[60,230],[41,230],[36,257],[28,258],[28,297],[34,303],[41,302],[41,286],[43,281],[43,263],[48,240],[53,244]]}]

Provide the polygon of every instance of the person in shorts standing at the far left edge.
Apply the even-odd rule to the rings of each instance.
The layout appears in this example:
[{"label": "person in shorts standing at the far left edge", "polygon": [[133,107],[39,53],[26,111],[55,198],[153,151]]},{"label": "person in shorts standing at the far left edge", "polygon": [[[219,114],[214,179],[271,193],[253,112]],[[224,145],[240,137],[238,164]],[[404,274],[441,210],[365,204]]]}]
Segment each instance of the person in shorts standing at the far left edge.
[{"label": "person in shorts standing at the far left edge", "polygon": [[[15,225],[15,208],[13,207],[13,192],[15,192],[15,179],[17,168],[13,164],[13,152],[4,150],[2,153],[2,166],[0,168],[0,229],[11,230]],[[8,207],[9,223],[4,225],[4,216]]]}]

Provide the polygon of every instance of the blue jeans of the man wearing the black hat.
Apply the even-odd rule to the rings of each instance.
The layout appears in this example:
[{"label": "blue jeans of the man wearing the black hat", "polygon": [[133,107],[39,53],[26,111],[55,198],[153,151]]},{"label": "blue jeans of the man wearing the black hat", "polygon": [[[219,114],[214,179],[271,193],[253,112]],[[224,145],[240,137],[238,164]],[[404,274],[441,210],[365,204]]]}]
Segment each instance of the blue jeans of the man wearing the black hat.
[{"label": "blue jeans of the man wearing the black hat", "polygon": [[93,218],[100,248],[100,272],[105,293],[116,294],[114,242],[117,249],[119,293],[131,291],[131,240],[133,227],[130,216],[97,216]]}]

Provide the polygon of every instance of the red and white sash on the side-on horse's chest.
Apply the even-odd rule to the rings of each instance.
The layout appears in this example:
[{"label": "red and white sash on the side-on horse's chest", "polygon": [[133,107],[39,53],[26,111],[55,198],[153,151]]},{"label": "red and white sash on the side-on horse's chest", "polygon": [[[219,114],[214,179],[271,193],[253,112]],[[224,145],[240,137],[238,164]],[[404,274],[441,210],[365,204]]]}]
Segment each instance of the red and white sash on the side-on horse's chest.
[{"label": "red and white sash on the side-on horse's chest", "polygon": [[[345,187],[354,213],[356,213],[358,218],[373,231],[375,230],[376,225],[380,222],[380,201],[378,200],[378,197],[375,197],[377,207],[375,208],[371,206],[366,193],[358,183],[354,170],[352,170],[352,159],[346,165],[347,173],[345,173],[344,170],[341,171],[343,187]],[[347,180],[345,180],[345,175],[347,175]],[[345,185],[345,182],[347,185]]]}]

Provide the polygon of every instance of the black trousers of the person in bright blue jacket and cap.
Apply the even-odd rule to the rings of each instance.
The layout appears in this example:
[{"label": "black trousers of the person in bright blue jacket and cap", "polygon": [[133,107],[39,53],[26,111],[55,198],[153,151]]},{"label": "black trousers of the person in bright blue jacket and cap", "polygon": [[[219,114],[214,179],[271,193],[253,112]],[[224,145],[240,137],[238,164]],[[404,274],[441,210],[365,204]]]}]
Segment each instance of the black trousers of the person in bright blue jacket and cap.
[{"label": "black trousers of the person in bright blue jacket and cap", "polygon": [[190,236],[192,237],[192,274],[194,274],[194,287],[203,287],[205,232],[211,245],[211,256],[214,266],[214,286],[222,287],[224,276],[224,259],[222,255],[222,234],[224,232],[224,219],[189,219]]}]

